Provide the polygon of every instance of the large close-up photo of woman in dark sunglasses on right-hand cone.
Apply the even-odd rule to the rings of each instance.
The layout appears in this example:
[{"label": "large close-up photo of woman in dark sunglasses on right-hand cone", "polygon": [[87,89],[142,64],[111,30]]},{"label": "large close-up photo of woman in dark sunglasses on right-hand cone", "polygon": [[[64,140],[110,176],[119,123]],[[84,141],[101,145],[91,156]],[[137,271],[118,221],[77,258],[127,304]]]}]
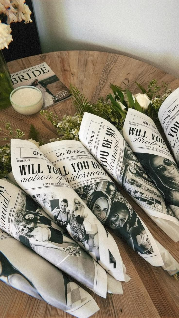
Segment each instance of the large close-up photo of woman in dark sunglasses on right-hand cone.
[{"label": "large close-up photo of woman in dark sunglasses on right-hand cone", "polygon": [[[179,207],[179,169],[176,163],[161,156],[153,156],[149,160],[149,165],[152,170],[151,176],[166,201],[170,205]],[[171,208],[173,209],[172,206]],[[179,215],[176,217],[179,218]]]}]

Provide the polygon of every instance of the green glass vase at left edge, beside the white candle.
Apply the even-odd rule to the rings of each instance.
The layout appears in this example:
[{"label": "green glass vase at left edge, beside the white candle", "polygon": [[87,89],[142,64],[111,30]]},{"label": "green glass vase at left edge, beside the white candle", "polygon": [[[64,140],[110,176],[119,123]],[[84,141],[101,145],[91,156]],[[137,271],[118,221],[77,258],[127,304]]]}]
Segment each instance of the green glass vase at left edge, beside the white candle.
[{"label": "green glass vase at left edge, beside the white candle", "polygon": [[10,106],[10,93],[13,90],[10,73],[0,50],[0,110]]}]

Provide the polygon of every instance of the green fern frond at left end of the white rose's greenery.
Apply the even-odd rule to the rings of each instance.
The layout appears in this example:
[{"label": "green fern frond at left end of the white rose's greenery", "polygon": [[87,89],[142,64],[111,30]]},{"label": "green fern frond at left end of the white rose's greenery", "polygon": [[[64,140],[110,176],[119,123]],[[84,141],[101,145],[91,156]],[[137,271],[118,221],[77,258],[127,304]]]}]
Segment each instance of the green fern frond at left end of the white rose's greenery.
[{"label": "green fern frond at left end of the white rose's greenery", "polygon": [[72,105],[81,116],[84,112],[96,114],[95,105],[91,104],[88,98],[81,94],[77,87],[70,84],[70,92],[72,93]]}]

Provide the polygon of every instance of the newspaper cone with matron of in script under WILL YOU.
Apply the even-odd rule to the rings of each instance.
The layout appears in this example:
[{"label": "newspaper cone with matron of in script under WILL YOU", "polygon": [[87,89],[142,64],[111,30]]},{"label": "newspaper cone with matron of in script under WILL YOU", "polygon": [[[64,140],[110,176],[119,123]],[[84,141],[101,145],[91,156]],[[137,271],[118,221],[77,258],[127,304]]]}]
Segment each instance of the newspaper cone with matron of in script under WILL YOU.
[{"label": "newspaper cone with matron of in script under WILL YOU", "polygon": [[[125,266],[113,237],[44,154],[29,141],[11,140],[11,165],[20,187],[55,221],[61,202],[68,204],[68,218],[61,224],[66,232],[115,279],[125,280]],[[93,243],[92,252],[88,240]]]}]

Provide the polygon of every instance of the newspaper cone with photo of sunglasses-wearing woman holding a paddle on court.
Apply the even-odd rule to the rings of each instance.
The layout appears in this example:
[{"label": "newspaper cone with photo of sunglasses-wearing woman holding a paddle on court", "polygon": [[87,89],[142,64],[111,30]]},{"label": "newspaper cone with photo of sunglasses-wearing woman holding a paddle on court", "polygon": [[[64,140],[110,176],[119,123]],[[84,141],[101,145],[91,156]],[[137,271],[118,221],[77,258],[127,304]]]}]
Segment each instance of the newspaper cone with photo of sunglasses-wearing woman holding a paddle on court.
[{"label": "newspaper cone with photo of sunglasses-wearing woman holding a paddle on court", "polygon": [[[0,179],[0,228],[50,263],[81,282],[96,294],[106,297],[112,283],[121,283],[95,262],[69,235],[38,207],[19,187]],[[112,280],[113,282],[112,282]],[[107,286],[109,281],[109,286]],[[116,287],[115,287],[116,290]]]}]

